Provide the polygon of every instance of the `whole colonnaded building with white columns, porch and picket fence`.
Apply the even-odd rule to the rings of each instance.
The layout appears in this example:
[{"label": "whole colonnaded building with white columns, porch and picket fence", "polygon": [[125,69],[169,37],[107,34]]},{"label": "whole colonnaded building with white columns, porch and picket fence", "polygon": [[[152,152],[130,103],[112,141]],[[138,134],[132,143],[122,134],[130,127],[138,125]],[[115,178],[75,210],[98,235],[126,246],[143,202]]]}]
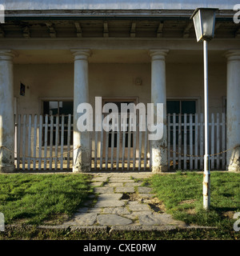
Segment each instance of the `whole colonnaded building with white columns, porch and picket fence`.
[{"label": "whole colonnaded building with white columns, porch and picket fence", "polygon": [[[202,42],[190,19],[199,7],[218,8],[208,50],[210,168],[240,170],[238,0],[0,4],[1,172],[202,170]],[[126,130],[79,131],[78,105],[95,111],[96,97],[101,109],[163,103],[162,138],[150,141],[139,118],[136,130],[127,118]]]}]

